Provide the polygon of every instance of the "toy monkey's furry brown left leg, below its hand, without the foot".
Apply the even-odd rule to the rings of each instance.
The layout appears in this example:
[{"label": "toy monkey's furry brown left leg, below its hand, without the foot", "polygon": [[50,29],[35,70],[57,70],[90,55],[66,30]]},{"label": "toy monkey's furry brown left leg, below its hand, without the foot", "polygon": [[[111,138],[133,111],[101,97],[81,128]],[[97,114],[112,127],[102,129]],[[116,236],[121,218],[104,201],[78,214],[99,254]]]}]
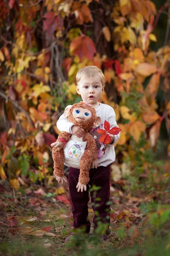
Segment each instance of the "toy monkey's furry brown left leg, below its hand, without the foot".
[{"label": "toy monkey's furry brown left leg, below its hand, without the foot", "polygon": [[52,150],[52,157],[54,160],[54,175],[62,177],[64,175],[64,150],[63,148],[60,151],[55,151],[55,148]]}]

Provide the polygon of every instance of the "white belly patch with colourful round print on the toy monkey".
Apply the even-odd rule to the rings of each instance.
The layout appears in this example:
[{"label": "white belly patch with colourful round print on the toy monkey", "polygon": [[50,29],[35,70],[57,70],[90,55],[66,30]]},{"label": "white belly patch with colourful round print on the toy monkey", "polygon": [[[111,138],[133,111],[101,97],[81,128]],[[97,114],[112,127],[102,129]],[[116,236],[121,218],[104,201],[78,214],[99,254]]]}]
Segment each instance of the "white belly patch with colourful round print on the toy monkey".
[{"label": "white belly patch with colourful round print on the toy monkey", "polygon": [[80,168],[80,159],[85,152],[86,145],[87,141],[70,140],[64,148],[65,166]]}]

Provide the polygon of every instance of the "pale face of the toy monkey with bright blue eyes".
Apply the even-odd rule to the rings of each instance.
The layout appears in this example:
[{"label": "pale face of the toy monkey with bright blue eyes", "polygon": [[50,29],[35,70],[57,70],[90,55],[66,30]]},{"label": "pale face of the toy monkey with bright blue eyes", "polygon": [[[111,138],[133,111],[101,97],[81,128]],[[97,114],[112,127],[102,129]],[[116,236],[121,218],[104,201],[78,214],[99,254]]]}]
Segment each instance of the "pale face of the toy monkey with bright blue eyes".
[{"label": "pale face of the toy monkey with bright blue eyes", "polygon": [[78,123],[87,122],[89,119],[91,119],[91,111],[86,108],[74,108],[72,114]]}]

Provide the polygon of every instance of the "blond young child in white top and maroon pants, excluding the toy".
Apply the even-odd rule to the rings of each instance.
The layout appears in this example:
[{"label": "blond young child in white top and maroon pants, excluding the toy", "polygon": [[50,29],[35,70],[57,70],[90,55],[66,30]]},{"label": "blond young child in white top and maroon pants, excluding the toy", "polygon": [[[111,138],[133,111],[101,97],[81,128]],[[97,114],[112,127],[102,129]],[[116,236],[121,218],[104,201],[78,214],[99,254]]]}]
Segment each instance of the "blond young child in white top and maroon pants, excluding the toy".
[{"label": "blond young child in white top and maroon pants, excluding the toy", "polygon": [[[81,95],[82,101],[92,105],[96,109],[96,115],[100,116],[101,124],[98,128],[91,129],[90,134],[94,137],[97,145],[97,163],[94,162],[91,165],[89,171],[90,181],[88,185],[99,186],[97,191],[91,191],[91,202],[94,210],[94,230],[97,228],[98,221],[106,224],[106,232],[101,236],[101,241],[108,239],[109,224],[110,224],[110,207],[107,202],[110,197],[110,165],[115,161],[114,144],[119,140],[120,133],[118,135],[110,135],[110,144],[105,145],[99,143],[99,137],[101,134],[97,133],[97,129],[104,129],[105,120],[109,122],[110,129],[118,127],[116,123],[116,115],[109,105],[99,103],[98,100],[105,87],[105,76],[96,66],[86,66],[78,71],[76,76],[77,81],[77,93]],[[70,108],[71,105],[66,108]],[[74,134],[77,137],[83,137],[84,129],[74,125],[64,117],[64,114],[60,116],[57,121],[57,128],[59,131],[67,131],[70,134]],[[56,143],[52,143],[51,146],[55,147]],[[57,146],[57,145],[56,145]],[[87,190],[77,191],[77,183],[79,178],[79,169],[69,167],[68,184],[70,192],[70,201],[72,207],[72,213],[74,218],[74,229],[84,227],[85,232],[90,232],[91,223],[88,220],[88,201],[89,201],[89,186]],[[56,177],[58,182],[62,184],[67,182],[66,177]],[[97,201],[96,201],[97,198]],[[100,198],[100,199],[98,199]],[[73,236],[74,233],[71,234]],[[70,237],[66,238],[69,241]]]}]

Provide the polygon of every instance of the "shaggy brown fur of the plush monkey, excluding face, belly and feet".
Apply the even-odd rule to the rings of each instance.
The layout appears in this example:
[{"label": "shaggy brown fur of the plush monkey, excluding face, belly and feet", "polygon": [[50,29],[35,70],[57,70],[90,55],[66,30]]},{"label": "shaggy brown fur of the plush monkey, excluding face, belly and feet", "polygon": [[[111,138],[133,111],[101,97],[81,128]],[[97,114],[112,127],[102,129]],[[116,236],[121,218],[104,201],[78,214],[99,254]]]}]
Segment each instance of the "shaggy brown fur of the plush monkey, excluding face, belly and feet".
[{"label": "shaggy brown fur of the plush monkey, excluding face, belly and feet", "polygon": [[[77,123],[73,117],[72,111],[74,108],[78,108],[78,107],[86,108],[89,111],[91,111],[91,114],[92,114],[91,119],[83,123]],[[83,137],[83,141],[87,141],[87,145],[86,145],[85,153],[82,155],[82,158],[80,160],[80,175],[79,175],[79,182],[82,184],[87,184],[89,182],[89,169],[90,169],[91,163],[92,161],[97,160],[96,142],[94,138],[91,136],[91,134],[88,133],[88,130],[94,126],[95,120],[96,120],[95,109],[90,105],[86,105],[84,102],[75,103],[69,109],[68,121],[73,122],[74,125],[77,125],[85,129],[85,135]],[[71,138],[71,134],[65,131],[59,134],[57,141],[62,143],[64,148],[65,143],[59,140],[59,138],[68,142]],[[52,156],[54,160],[54,175],[60,176],[60,177],[64,175],[64,172],[63,172],[64,149],[63,148],[60,151],[55,151],[55,148],[53,148],[52,150]]]}]

